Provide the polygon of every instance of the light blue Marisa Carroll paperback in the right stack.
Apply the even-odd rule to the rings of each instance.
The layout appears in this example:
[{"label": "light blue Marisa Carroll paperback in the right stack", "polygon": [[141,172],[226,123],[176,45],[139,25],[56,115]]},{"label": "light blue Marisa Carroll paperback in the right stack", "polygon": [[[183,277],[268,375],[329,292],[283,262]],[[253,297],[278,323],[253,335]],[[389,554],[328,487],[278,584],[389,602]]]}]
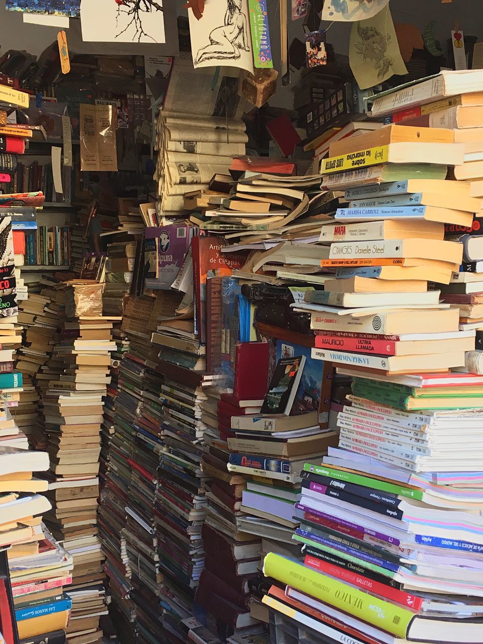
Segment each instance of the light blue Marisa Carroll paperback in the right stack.
[{"label": "light blue Marisa Carroll paperback in the right stack", "polygon": [[376,208],[337,208],[337,220],[352,222],[357,220],[377,221],[383,219],[422,219],[431,222],[457,223],[471,226],[473,213],[450,208],[437,208],[430,205],[380,206]]}]

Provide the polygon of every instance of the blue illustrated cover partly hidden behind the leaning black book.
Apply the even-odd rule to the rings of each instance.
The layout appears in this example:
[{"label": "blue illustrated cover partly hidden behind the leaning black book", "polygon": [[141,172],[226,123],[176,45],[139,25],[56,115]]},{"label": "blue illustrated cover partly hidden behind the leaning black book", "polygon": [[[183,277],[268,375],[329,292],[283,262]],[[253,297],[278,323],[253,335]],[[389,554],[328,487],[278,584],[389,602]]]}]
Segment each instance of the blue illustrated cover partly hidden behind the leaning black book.
[{"label": "blue illustrated cover partly hidden behind the leaning black book", "polygon": [[317,412],[319,410],[323,369],[319,360],[312,358],[311,348],[296,345],[286,340],[277,340],[275,363],[281,358],[305,355],[302,377],[292,406],[292,414]]}]

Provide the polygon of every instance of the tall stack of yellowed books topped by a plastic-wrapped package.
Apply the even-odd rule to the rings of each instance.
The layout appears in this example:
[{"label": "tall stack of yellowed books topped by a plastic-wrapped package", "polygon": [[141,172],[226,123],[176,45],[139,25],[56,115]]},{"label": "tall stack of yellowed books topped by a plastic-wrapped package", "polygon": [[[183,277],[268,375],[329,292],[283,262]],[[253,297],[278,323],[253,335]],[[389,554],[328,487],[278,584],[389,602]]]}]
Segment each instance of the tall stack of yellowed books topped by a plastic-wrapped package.
[{"label": "tall stack of yellowed books topped by a plastic-wrapped package", "polygon": [[110,381],[110,352],[116,345],[111,341],[112,319],[96,315],[102,312],[99,287],[76,281],[64,288],[66,319],[54,348],[64,369],[50,381],[43,397],[53,506],[46,522],[73,557],[68,641],[84,641],[88,630],[89,642],[96,642],[102,637],[100,616],[107,612],[104,556],[97,536],[102,396]]}]

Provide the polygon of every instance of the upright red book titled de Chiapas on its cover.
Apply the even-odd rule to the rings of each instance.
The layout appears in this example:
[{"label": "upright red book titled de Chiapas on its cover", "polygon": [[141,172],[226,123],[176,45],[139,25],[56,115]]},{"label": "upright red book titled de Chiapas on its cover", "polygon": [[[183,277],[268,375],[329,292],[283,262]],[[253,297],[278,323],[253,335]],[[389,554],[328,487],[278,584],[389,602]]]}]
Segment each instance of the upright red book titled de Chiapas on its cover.
[{"label": "upright red book titled de Chiapas on its cover", "polygon": [[193,237],[194,330],[202,343],[206,343],[206,281],[210,277],[230,276],[232,270],[241,269],[247,252],[222,252],[227,242],[223,238]]}]

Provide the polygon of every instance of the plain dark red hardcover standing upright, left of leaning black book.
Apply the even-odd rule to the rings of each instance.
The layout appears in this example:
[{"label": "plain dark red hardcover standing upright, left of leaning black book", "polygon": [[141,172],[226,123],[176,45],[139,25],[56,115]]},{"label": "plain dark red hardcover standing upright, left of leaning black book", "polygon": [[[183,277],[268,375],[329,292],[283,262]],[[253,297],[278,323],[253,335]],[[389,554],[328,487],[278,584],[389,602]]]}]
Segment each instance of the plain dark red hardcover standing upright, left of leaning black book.
[{"label": "plain dark red hardcover standing upright, left of leaning black book", "polygon": [[240,401],[263,400],[269,377],[269,343],[242,342],[235,352],[233,397]]}]

